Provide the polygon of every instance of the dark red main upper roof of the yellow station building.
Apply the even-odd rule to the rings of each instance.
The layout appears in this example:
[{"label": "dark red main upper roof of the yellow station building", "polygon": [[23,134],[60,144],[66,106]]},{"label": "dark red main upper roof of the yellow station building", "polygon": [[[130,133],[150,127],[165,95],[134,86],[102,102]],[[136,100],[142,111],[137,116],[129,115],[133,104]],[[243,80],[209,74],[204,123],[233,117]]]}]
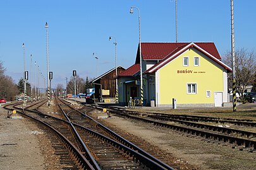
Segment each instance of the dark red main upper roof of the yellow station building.
[{"label": "dark red main upper roof of the yellow station building", "polygon": [[[143,57],[143,60],[162,60],[167,55],[178,50],[178,48],[184,47],[188,44],[190,44],[190,42],[189,43],[187,42],[183,42],[183,43],[143,42],[142,57]],[[217,48],[213,42],[195,42],[195,44],[198,45],[200,48],[204,49],[205,51],[209,52],[209,54],[213,55],[217,59],[221,60],[221,56],[219,55],[219,52],[217,52]]]}]

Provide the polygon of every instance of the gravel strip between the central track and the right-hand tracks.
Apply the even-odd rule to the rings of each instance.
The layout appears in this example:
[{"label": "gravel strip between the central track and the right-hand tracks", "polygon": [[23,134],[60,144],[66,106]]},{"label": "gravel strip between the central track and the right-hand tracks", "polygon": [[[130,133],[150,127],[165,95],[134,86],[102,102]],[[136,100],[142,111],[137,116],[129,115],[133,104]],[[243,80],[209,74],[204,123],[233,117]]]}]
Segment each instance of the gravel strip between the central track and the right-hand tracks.
[{"label": "gravel strip between the central track and the right-hand tracks", "polygon": [[195,135],[145,125],[114,115],[101,122],[111,123],[126,133],[144,139],[172,154],[176,162],[187,162],[196,169],[256,169],[256,152],[232,149],[227,143],[205,142],[204,138]]}]

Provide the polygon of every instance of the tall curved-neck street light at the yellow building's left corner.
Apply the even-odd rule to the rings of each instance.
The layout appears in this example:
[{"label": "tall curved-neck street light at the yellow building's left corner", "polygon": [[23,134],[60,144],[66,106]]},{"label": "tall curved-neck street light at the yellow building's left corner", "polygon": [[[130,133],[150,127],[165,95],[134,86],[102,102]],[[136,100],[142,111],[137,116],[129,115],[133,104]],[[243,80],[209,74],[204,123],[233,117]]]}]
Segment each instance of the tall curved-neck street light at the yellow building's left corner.
[{"label": "tall curved-neck street light at the yellow building's left corner", "polygon": [[[131,6],[130,13],[133,14],[133,8],[138,9],[136,6]],[[142,43],[140,41],[140,9],[138,9],[138,42],[140,44],[140,100],[143,106],[143,80],[142,80]]]}]

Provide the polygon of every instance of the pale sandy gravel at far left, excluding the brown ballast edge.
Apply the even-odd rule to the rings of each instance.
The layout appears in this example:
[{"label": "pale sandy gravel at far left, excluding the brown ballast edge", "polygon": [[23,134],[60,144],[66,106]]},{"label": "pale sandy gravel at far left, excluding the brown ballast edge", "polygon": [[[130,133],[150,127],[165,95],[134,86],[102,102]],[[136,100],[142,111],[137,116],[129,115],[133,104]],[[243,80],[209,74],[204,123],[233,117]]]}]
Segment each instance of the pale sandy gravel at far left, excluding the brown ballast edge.
[{"label": "pale sandy gravel at far left, excluding the brown ballast edge", "polygon": [[44,169],[37,138],[43,132],[27,119],[6,117],[0,108],[0,169]]}]

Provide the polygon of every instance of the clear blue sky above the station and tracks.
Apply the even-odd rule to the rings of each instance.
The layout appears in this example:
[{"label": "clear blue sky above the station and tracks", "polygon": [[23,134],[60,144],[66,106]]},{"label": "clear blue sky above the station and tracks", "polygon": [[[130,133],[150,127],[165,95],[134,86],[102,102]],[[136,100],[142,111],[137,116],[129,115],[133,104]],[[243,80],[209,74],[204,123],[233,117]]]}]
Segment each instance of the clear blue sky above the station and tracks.
[{"label": "clear blue sky above the station and tracks", "polygon": [[[256,50],[256,1],[234,0],[235,46]],[[174,0],[1,0],[0,61],[6,74],[16,82],[23,77],[25,43],[26,70],[30,72],[30,54],[40,71],[46,74],[46,28],[49,25],[49,65],[52,87],[66,86],[72,71],[96,77],[97,54],[103,74],[115,67],[116,38],[118,65],[125,68],[135,62],[138,47],[138,11],[142,42],[175,42]],[[231,50],[229,0],[178,0],[178,42],[214,42],[219,54]],[[30,82],[30,80],[29,80]]]}]

